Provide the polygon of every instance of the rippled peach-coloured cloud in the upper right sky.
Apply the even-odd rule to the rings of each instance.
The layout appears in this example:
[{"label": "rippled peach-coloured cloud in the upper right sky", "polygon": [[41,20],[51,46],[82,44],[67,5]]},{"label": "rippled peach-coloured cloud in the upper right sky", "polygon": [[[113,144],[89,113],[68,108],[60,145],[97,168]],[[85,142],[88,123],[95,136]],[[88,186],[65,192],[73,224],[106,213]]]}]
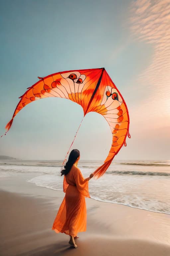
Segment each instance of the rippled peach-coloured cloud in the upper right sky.
[{"label": "rippled peach-coloured cloud in the upper right sky", "polygon": [[170,118],[170,0],[132,1],[130,32],[135,40],[153,45],[152,61],[136,82],[151,92],[142,102],[147,119],[157,116],[166,125]]}]

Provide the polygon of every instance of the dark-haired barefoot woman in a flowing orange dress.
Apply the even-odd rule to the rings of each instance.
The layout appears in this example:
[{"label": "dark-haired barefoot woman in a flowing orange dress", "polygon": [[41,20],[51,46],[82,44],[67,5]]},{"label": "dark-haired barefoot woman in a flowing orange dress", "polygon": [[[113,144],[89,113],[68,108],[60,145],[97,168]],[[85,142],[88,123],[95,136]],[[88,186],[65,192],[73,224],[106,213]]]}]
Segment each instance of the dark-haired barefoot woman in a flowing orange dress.
[{"label": "dark-haired barefoot woman in a flowing orange dress", "polygon": [[75,248],[77,245],[74,238],[77,238],[77,233],[86,231],[85,197],[90,198],[88,181],[93,177],[93,174],[90,174],[88,178],[83,178],[77,167],[79,159],[79,150],[73,149],[64,166],[65,169],[61,171],[61,176],[64,175],[63,191],[65,192],[65,197],[52,226],[56,233],[61,232],[69,235],[69,244]]}]

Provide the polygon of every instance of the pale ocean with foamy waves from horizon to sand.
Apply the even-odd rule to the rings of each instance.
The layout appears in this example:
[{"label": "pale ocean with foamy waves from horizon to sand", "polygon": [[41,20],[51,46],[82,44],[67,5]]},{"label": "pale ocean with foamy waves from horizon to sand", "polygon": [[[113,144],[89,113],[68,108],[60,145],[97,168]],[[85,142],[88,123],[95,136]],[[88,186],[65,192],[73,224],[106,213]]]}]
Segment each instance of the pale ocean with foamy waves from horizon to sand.
[{"label": "pale ocean with foamy waves from horizon to sand", "polygon": [[[62,161],[0,160],[0,178],[33,173],[27,182],[53,190],[62,190]],[[79,161],[84,178],[101,161]],[[114,160],[99,179],[89,181],[91,198],[130,207],[170,214],[170,160]],[[64,194],[63,194],[64,197]]]}]

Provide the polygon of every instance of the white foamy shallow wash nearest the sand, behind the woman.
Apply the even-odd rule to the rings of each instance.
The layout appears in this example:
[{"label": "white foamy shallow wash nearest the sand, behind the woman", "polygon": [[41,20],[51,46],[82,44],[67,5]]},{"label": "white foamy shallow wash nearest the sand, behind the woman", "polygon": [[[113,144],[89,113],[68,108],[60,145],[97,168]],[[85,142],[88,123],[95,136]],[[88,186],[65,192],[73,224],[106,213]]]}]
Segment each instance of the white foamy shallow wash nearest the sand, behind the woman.
[{"label": "white foamy shallow wash nearest the sand, behind the woman", "polygon": [[[109,177],[108,177],[109,176]],[[168,177],[106,175],[89,182],[91,198],[110,203],[170,214]],[[41,175],[28,182],[54,190],[62,190],[63,177]],[[63,194],[64,196],[64,194]]]}]

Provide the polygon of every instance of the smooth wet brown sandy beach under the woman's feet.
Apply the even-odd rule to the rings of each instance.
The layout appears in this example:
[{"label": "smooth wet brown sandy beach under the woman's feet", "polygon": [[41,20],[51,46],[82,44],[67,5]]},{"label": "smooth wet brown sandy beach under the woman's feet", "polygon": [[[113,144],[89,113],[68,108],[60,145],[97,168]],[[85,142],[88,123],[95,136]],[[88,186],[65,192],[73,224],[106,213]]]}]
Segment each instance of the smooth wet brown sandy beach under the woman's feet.
[{"label": "smooth wet brown sandy beach under the woman's feet", "polygon": [[64,197],[25,181],[25,176],[0,180],[1,256],[99,255],[169,256],[170,215],[86,198],[87,231],[78,247],[51,230]]}]

